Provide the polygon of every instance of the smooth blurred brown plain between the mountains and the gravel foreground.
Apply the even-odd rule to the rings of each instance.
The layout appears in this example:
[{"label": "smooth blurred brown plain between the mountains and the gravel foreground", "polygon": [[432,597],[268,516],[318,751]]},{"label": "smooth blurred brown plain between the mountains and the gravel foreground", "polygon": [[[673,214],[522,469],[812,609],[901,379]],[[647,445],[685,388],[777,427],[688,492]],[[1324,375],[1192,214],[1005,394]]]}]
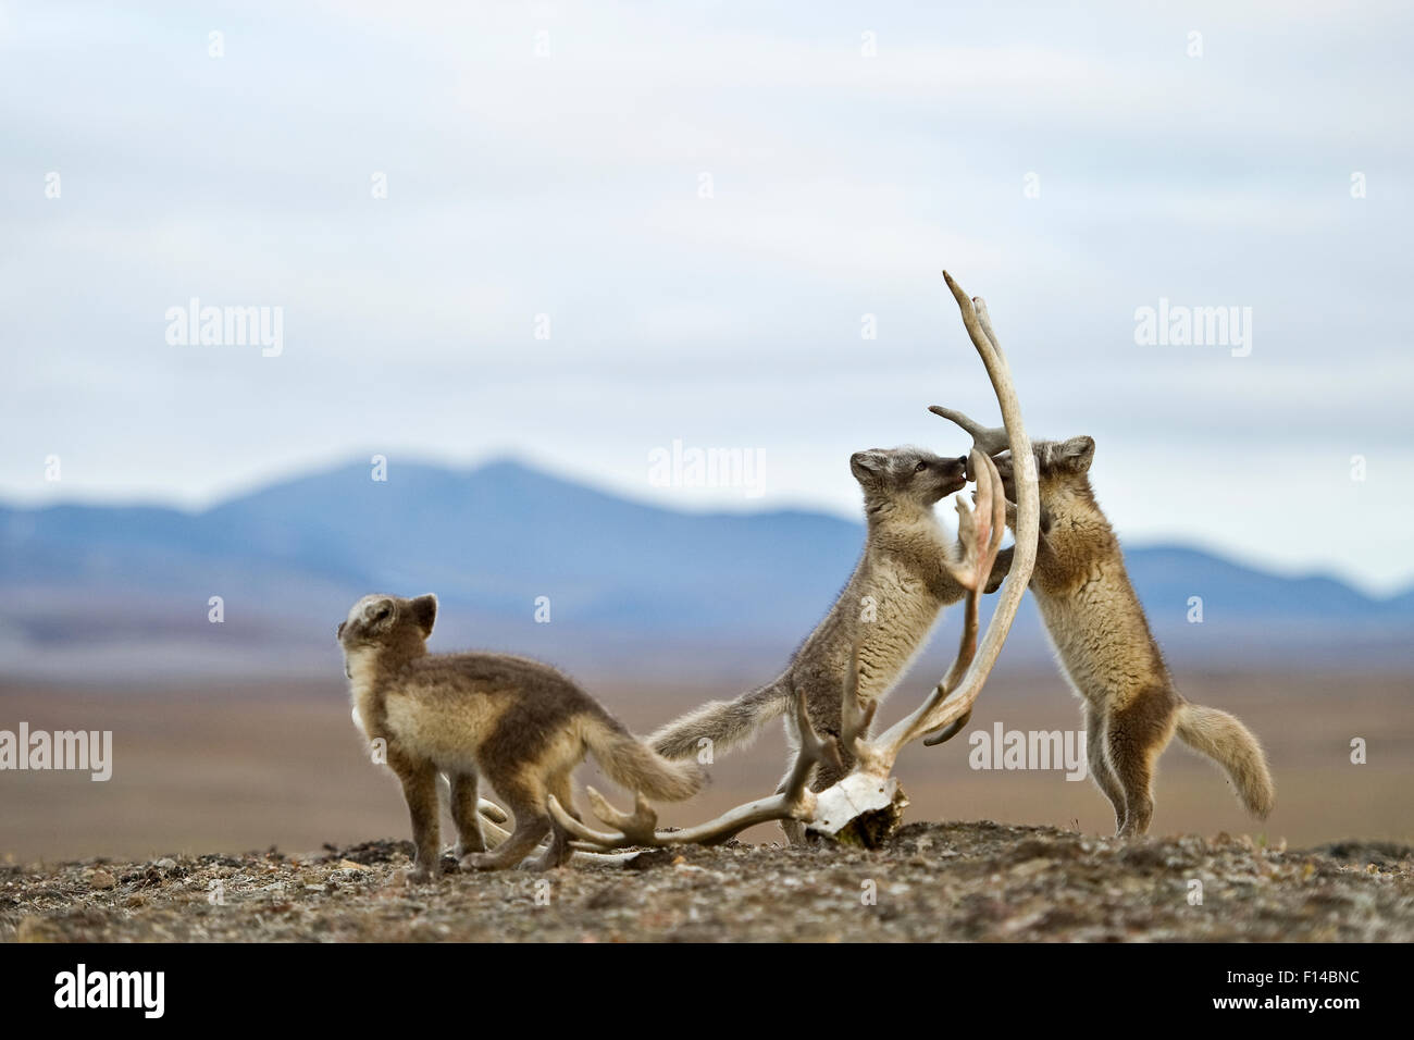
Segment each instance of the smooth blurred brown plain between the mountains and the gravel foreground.
[{"label": "smooth blurred brown plain between the mountains and the gravel foreground", "polygon": [[[594,685],[629,726],[648,730],[718,686]],[[1414,712],[1401,675],[1222,674],[1182,676],[1185,695],[1240,715],[1261,737],[1277,780],[1277,811],[1249,819],[1226,778],[1178,741],[1155,785],[1154,835],[1250,833],[1292,848],[1346,838],[1414,842]],[[899,691],[884,716],[901,713]],[[69,773],[0,774],[0,860],[151,857],[288,852],[325,843],[407,836],[396,782],[373,767],[349,722],[338,682],[211,685],[163,691],[0,688],[0,729],[113,732],[113,778]],[[1076,730],[1079,712],[1053,672],[998,669],[967,732],[936,749],[909,747],[898,775],[912,799],[909,821],[980,821],[1110,833],[1107,802],[1059,770],[981,771],[969,764],[977,730]],[[1350,761],[1350,741],[1367,741],[1367,761]],[[689,824],[769,794],[781,777],[783,741],[772,730],[723,757],[696,801],[663,807],[665,824]],[[581,781],[611,791],[592,763]],[[769,826],[748,842],[769,842]]]}]

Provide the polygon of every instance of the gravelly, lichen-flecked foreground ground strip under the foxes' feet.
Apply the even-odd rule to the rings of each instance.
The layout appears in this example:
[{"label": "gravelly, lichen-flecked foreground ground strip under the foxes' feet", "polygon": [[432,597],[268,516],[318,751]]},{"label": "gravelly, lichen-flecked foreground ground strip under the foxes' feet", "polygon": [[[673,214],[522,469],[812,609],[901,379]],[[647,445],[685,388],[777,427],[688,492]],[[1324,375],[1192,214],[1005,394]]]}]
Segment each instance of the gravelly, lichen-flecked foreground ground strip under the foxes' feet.
[{"label": "gravelly, lichen-flecked foreground ground strip under the foxes' feet", "polygon": [[1414,940],[1414,849],[1377,842],[912,824],[880,852],[684,848],[436,884],[407,883],[410,848],[0,867],[0,940]]}]

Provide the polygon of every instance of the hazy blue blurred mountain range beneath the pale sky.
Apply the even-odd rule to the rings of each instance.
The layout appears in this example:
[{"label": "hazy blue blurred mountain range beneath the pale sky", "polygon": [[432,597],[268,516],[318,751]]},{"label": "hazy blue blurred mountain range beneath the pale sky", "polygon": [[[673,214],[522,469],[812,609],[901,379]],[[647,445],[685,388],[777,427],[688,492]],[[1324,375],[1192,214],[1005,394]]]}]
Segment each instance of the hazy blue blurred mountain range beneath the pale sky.
[{"label": "hazy blue blurred mountain range beneath the pale sky", "polygon": [[[761,682],[858,557],[863,524],[643,505],[515,461],[363,463],[204,512],[0,508],[0,672],[132,683],[338,676],[334,628],[370,591],[436,591],[438,649],[491,647],[594,675]],[[1178,665],[1410,668],[1414,590],[1372,599],[1181,546],[1127,550]],[[221,597],[223,621],[209,620]],[[1189,599],[1202,599],[1192,624]],[[550,621],[536,621],[537,597]],[[960,611],[930,654],[946,658]],[[1004,659],[1049,655],[1029,599]]]}]

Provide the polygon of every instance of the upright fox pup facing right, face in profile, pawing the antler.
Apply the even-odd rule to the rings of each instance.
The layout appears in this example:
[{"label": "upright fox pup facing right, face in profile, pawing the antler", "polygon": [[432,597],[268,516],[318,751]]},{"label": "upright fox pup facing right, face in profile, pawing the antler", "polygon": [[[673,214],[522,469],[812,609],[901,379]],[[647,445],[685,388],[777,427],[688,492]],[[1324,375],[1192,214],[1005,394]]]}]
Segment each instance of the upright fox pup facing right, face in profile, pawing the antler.
[{"label": "upright fox pup facing right, face in profile, pawing the antler", "polygon": [[[648,740],[667,758],[687,758],[710,740],[714,753],[755,737],[778,717],[797,743],[788,710],[796,691],[806,695],[816,733],[839,736],[840,705],[858,640],[858,696],[880,702],[923,645],[942,608],[957,603],[963,589],[943,566],[952,545],[933,504],[962,490],[966,458],[940,458],[915,447],[874,449],[850,457],[850,470],[864,491],[868,533],[864,553],[834,607],[810,632],[776,679],[735,700],[711,700],[652,733]],[[1001,583],[997,572],[988,591]],[[812,790],[823,791],[853,765],[841,749],[841,768],[819,767]],[[800,828],[785,824],[799,839]]]}]

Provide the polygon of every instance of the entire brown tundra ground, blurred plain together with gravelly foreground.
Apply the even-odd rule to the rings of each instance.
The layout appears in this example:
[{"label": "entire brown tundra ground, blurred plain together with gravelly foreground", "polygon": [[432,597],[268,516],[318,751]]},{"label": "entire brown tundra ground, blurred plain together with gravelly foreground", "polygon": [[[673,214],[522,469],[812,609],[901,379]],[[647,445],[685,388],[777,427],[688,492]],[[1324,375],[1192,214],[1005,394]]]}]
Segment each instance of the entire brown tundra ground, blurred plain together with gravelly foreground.
[{"label": "entire brown tundra ground, blurred plain together with gravelly foreground", "polygon": [[[595,688],[639,730],[735,692]],[[878,852],[781,848],[761,826],[631,867],[488,876],[448,859],[440,883],[411,886],[402,797],[362,753],[339,683],[13,685],[0,691],[4,726],[109,729],[115,764],[107,782],[0,775],[0,941],[1414,938],[1407,681],[1191,674],[1184,689],[1263,737],[1278,785],[1266,824],[1176,744],[1152,835],[1133,843],[1109,836],[1089,781],[973,768],[969,736],[998,722],[1077,724],[1053,674],[1000,671],[963,737],[905,753],[911,822]],[[1356,737],[1365,764],[1350,761]],[[718,761],[708,791],[663,821],[769,792],[782,758],[768,736]],[[581,781],[612,790],[592,765]]]}]

